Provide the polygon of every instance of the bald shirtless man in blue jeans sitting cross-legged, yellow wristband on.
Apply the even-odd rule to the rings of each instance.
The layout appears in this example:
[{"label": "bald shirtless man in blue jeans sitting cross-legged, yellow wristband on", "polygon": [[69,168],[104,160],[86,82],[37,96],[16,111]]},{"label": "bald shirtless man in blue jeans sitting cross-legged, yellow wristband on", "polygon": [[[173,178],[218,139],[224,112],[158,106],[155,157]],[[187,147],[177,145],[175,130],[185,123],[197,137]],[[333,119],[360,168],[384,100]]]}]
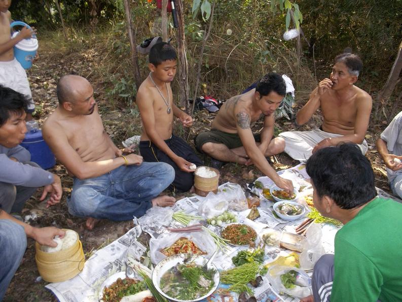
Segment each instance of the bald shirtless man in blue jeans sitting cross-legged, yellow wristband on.
[{"label": "bald shirtless man in blue jeans sitting cross-legged, yellow wristband on", "polygon": [[118,149],[103,128],[93,94],[85,78],[64,75],[57,84],[59,105],[43,125],[45,141],[75,176],[70,214],[88,217],[93,229],[98,219],[129,220],[151,206],[174,205],[174,198],[158,196],[173,181],[173,168],[143,163],[130,149]]}]

